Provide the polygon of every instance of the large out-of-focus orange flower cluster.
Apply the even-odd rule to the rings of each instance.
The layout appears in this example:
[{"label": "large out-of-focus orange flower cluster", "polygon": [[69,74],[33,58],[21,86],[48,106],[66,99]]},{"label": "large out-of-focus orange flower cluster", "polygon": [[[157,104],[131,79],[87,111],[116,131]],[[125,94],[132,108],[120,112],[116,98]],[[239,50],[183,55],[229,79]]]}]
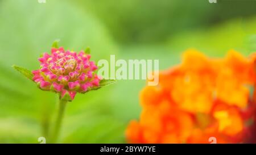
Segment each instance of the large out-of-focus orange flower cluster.
[{"label": "large out-of-focus orange flower cluster", "polygon": [[223,59],[210,59],[186,51],[180,65],[159,73],[158,86],[141,91],[141,118],[130,122],[127,141],[255,142],[255,66],[255,55],[229,51]]}]

